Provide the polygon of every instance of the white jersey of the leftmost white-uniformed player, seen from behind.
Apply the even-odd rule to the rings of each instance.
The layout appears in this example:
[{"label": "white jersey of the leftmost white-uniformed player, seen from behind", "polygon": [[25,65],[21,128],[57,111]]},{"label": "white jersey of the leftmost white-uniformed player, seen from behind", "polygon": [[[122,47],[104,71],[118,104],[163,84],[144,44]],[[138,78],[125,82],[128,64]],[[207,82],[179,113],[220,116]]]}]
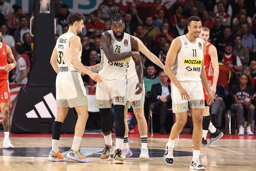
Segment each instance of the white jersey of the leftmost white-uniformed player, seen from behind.
[{"label": "white jersey of the leftmost white-uniformed player, seen from behind", "polygon": [[[64,33],[57,39],[56,49],[58,52],[58,69],[59,72],[67,72],[67,71],[78,71],[70,62],[70,58],[72,56],[71,49],[69,47],[69,40],[71,37],[75,36],[73,33]],[[78,60],[81,61],[82,49],[79,51]]]}]

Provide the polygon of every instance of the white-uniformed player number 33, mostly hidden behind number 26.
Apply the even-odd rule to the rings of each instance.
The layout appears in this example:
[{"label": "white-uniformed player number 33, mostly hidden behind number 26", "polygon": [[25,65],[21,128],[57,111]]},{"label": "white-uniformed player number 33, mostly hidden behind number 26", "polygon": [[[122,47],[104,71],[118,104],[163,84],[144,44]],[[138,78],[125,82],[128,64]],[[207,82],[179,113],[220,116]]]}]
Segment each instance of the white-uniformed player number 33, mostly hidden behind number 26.
[{"label": "white-uniformed player number 33, mostly hidden behind number 26", "polygon": [[[153,63],[157,64],[159,67],[165,70],[165,66],[159,60],[159,58],[157,58],[154,54],[152,54],[152,52],[150,52],[148,48],[146,48],[146,46],[143,44],[143,42],[139,38],[137,37],[135,38],[137,39],[137,42],[138,42],[139,51],[142,52],[146,57],[148,57],[149,60],[151,60]],[[98,72],[99,68],[101,68],[101,64],[88,66],[88,69],[90,69],[92,72]],[[141,144],[142,144],[142,147],[140,148],[141,149],[140,159],[147,159],[149,157],[148,147],[147,147],[148,127],[147,127],[147,122],[144,116],[144,109],[143,109],[144,101],[145,101],[145,87],[143,84],[142,95],[135,95],[135,92],[136,92],[135,86],[138,82],[138,77],[136,74],[135,63],[131,59],[129,61],[127,79],[128,79],[127,80],[127,98],[126,98],[126,105],[125,105],[125,112],[124,112],[125,136],[123,141],[122,157],[123,159],[125,159],[126,157],[130,157],[133,154],[128,144],[129,128],[126,120],[127,110],[128,108],[130,108],[130,103],[132,103],[133,111],[138,121],[139,133],[140,133]]]}]

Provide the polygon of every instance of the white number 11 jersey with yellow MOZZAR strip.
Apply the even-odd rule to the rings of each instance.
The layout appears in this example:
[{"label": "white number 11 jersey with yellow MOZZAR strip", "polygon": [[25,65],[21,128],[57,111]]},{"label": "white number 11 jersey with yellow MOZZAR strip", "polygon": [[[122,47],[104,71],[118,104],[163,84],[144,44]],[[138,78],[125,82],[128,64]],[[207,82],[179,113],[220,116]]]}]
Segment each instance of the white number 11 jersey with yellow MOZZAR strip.
[{"label": "white number 11 jersey with yellow MOZZAR strip", "polygon": [[204,40],[197,38],[196,43],[191,43],[185,35],[179,37],[181,49],[172,66],[172,71],[179,81],[201,81]]}]

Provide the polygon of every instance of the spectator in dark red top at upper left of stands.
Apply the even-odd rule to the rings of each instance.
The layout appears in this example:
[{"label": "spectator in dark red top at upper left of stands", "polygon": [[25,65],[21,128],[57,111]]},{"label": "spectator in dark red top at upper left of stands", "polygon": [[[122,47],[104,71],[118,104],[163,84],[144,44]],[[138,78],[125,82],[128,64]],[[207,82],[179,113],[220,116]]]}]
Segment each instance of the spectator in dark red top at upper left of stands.
[{"label": "spectator in dark red top at upper left of stands", "polygon": [[14,31],[18,30],[21,27],[20,17],[24,16],[22,13],[22,7],[14,4],[12,6],[14,9],[13,13],[10,13],[8,16],[7,26],[9,28],[9,34],[14,35]]}]

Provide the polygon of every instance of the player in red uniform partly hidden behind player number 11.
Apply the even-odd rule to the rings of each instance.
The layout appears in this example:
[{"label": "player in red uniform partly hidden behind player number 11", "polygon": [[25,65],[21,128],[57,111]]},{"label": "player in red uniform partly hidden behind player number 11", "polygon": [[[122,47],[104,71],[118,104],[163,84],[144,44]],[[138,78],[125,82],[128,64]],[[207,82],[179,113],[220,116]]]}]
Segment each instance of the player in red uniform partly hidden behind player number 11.
[{"label": "player in red uniform partly hidden behind player number 11", "polygon": [[[206,53],[204,54],[204,69],[206,72],[207,82],[210,86],[210,92],[214,96],[216,93],[216,85],[219,77],[219,63],[218,63],[218,55],[217,49],[212,43],[208,42],[210,36],[210,30],[207,27],[203,27],[199,38],[203,39],[206,42]],[[204,104],[205,110],[203,114],[203,138],[201,147],[208,147],[216,142],[219,138],[223,136],[223,133],[216,129],[210,121],[215,117],[214,114],[210,115],[210,106],[207,104],[208,97],[205,94],[204,90]],[[208,129],[211,132],[209,144],[207,144],[206,136],[208,133]]]}]

